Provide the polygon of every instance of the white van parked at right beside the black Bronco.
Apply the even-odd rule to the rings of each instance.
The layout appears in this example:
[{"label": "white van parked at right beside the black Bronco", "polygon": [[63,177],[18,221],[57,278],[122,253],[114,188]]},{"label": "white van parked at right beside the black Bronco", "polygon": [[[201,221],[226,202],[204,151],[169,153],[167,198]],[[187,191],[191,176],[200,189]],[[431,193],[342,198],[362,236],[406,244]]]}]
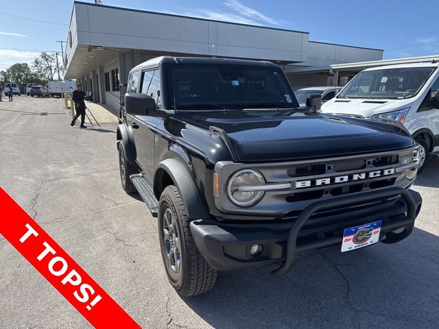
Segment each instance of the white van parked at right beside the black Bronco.
[{"label": "white van parked at right beside the black Bronco", "polygon": [[426,154],[439,150],[439,64],[379,66],[358,73],[322,105],[322,112],[364,119],[397,120],[423,146]]}]

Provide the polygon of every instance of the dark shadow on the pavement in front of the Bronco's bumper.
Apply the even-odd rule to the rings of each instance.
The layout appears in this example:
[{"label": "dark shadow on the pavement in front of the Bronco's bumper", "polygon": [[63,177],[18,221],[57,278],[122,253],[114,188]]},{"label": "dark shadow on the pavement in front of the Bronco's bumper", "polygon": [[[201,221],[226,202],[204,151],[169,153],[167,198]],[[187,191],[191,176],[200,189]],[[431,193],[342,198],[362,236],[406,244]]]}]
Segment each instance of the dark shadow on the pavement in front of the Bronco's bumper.
[{"label": "dark shadow on the pavement in front of the Bronco's bumper", "polygon": [[219,273],[212,291],[182,300],[214,328],[434,328],[438,246],[415,228],[394,245],[301,258],[282,278],[274,267]]}]

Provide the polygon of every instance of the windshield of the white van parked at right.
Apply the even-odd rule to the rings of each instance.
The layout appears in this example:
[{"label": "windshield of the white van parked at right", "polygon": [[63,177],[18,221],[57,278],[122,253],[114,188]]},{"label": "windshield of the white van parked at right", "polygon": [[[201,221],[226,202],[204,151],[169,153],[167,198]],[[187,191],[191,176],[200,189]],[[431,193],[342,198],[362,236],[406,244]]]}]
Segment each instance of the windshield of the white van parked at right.
[{"label": "windshield of the white van parked at right", "polygon": [[363,71],[337,98],[405,99],[414,97],[427,82],[434,67],[410,67]]}]

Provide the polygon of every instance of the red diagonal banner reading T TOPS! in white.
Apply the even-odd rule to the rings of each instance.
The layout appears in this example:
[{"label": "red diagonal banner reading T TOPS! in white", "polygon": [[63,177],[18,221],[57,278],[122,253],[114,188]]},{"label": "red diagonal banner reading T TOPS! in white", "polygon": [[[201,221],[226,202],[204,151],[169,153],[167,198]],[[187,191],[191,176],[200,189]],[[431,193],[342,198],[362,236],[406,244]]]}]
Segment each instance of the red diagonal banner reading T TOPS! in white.
[{"label": "red diagonal banner reading T TOPS! in white", "polygon": [[0,234],[95,328],[141,328],[0,188]]}]

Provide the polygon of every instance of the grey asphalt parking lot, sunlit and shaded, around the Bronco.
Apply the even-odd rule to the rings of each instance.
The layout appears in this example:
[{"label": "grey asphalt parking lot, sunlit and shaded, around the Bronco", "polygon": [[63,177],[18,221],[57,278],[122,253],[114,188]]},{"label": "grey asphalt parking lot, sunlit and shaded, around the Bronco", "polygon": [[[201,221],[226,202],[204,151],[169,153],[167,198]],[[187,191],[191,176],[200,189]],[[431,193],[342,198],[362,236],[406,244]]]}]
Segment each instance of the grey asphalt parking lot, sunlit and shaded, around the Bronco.
[{"label": "grey asphalt parking lot, sunlit and shaded, around the Bronco", "polygon": [[[119,182],[117,123],[69,125],[60,99],[0,103],[0,186],[142,328],[437,328],[439,158],[414,189],[423,209],[394,245],[302,258],[270,269],[220,273],[204,295],[167,282],[156,219]],[[0,328],[90,328],[0,236]]]}]

